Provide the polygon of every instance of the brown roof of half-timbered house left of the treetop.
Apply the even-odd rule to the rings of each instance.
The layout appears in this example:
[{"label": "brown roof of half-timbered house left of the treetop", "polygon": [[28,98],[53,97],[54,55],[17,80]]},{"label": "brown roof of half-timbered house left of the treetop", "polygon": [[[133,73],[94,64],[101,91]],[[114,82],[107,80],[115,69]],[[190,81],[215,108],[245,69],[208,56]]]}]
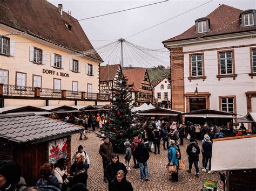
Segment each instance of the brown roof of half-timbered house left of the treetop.
[{"label": "brown roof of half-timbered house left of the treetop", "polygon": [[103,82],[103,81],[113,80],[119,68],[120,68],[120,65],[100,66],[99,81]]}]

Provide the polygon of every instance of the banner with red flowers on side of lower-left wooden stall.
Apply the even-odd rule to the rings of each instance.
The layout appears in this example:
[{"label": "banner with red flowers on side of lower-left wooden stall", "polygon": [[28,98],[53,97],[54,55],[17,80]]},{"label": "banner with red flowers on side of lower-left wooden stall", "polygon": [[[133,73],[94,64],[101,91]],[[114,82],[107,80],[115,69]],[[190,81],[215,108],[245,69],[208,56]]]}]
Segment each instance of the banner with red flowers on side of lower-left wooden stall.
[{"label": "banner with red flowers on side of lower-left wooden stall", "polygon": [[49,163],[55,164],[60,158],[68,156],[68,139],[57,139],[49,142]]}]

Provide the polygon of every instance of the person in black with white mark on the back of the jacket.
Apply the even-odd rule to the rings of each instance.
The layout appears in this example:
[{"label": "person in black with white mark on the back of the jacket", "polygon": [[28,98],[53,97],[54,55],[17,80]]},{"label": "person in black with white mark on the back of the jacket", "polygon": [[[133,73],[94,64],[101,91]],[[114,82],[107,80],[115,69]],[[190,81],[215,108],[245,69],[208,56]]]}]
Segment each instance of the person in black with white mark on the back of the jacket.
[{"label": "person in black with white mark on the back of the jacket", "polygon": [[192,164],[194,163],[194,167],[196,168],[196,172],[197,172],[196,176],[199,177],[198,161],[199,161],[200,148],[196,144],[193,138],[190,139],[190,144],[187,146],[187,154],[188,154],[188,163],[189,163],[189,168],[187,172],[191,173]]}]

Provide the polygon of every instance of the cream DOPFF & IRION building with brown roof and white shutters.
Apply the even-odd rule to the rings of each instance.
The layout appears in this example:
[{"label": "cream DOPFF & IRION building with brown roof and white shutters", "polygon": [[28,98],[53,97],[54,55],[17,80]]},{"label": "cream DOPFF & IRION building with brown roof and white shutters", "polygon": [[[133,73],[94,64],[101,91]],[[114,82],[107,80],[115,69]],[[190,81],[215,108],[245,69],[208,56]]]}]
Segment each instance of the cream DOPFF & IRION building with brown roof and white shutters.
[{"label": "cream DOPFF & IRION building with brown roof and white shutters", "polygon": [[77,19],[61,4],[57,8],[44,0],[3,4],[1,107],[104,104],[99,95],[102,59]]}]

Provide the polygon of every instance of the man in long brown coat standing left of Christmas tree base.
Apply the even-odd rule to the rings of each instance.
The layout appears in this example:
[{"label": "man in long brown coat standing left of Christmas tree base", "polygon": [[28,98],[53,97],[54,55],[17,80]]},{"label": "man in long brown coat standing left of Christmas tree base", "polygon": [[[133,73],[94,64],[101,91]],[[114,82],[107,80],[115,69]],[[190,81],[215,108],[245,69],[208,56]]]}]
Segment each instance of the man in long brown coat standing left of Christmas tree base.
[{"label": "man in long brown coat standing left of Christmas tree base", "polygon": [[104,169],[104,181],[107,182],[106,178],[106,167],[112,161],[113,146],[109,142],[109,138],[105,138],[103,144],[99,147],[99,154],[102,156],[102,163]]}]

